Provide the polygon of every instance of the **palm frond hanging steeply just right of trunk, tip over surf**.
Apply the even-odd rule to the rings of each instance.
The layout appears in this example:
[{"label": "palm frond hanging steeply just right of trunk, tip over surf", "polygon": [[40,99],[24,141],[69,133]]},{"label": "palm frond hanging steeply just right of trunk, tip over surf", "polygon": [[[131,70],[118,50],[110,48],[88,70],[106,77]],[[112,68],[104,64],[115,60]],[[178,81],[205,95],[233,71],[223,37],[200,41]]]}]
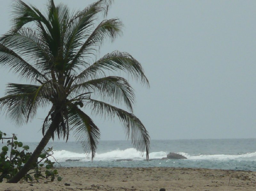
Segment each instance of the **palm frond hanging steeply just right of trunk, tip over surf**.
[{"label": "palm frond hanging steeply just right of trunk, tip over surf", "polygon": [[76,140],[81,142],[87,157],[93,159],[100,139],[100,130],[92,119],[74,104],[68,105],[68,120]]}]

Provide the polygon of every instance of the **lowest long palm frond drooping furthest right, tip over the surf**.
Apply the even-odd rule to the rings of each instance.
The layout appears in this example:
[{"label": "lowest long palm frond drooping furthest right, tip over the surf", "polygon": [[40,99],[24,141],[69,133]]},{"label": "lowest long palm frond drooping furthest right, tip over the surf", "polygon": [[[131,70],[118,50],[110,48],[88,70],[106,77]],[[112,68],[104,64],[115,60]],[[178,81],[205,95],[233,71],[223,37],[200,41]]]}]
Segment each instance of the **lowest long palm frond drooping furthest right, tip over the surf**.
[{"label": "lowest long palm frond drooping furthest right, tip over the surf", "polygon": [[132,113],[98,100],[89,99],[87,105],[91,107],[92,112],[94,112],[96,115],[119,118],[125,127],[126,135],[128,138],[131,136],[133,146],[142,153],[146,149],[146,159],[148,159],[149,135],[140,119],[138,119]]}]

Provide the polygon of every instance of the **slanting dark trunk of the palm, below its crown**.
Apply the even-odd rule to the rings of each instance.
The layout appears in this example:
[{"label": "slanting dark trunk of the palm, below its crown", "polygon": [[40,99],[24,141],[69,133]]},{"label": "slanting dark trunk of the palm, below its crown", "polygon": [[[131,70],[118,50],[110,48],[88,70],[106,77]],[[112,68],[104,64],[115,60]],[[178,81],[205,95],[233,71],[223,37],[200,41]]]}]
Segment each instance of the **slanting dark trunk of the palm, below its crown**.
[{"label": "slanting dark trunk of the palm, below its crown", "polygon": [[32,155],[29,157],[28,161],[19,170],[19,172],[17,172],[17,174],[15,174],[10,180],[7,181],[7,183],[17,183],[20,181],[20,179],[22,179],[27,174],[27,172],[31,169],[33,164],[37,162],[39,155],[42,153],[44,147],[47,145],[47,143],[51,139],[52,132],[55,131],[55,129],[59,124],[60,124],[60,115],[56,115],[56,117],[53,118],[50,127],[44,134],[44,137],[39,142],[38,146],[36,147]]}]

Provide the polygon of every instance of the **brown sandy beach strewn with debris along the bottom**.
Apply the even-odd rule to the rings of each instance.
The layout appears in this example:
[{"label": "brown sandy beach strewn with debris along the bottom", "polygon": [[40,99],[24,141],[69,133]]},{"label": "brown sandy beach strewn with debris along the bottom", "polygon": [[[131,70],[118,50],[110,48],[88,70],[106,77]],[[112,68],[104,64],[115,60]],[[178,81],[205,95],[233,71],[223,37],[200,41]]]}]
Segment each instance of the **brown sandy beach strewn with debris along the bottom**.
[{"label": "brown sandy beach strewn with debris along the bottom", "polygon": [[[0,190],[256,190],[256,172],[196,168],[61,167],[62,181],[0,183]],[[65,183],[70,186],[65,186]]]}]

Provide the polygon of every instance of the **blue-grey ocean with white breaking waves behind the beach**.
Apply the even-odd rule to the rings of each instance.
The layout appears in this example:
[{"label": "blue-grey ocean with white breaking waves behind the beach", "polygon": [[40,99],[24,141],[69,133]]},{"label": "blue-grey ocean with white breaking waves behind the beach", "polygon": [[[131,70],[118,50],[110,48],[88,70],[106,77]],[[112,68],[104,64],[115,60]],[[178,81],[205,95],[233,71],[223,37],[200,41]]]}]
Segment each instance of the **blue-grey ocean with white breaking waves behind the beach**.
[{"label": "blue-grey ocean with white breaking waves behind the beach", "polygon": [[[37,143],[23,142],[32,152]],[[149,158],[132,148],[131,141],[100,141],[93,161],[79,143],[49,142],[54,158],[63,167],[189,167],[256,171],[256,139],[151,140]],[[161,159],[169,152],[188,159]],[[70,160],[68,160],[70,159]],[[132,160],[118,160],[132,159]],[[68,162],[67,162],[68,161]]]}]

